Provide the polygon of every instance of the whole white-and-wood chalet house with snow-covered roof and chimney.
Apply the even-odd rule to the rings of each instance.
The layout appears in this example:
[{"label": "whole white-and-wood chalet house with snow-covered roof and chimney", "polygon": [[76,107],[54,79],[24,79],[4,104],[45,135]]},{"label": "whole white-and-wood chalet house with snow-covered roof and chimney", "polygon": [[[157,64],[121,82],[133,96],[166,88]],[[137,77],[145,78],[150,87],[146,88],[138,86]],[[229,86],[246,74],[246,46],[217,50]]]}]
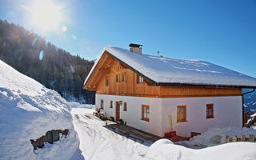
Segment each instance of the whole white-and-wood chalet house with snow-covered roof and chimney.
[{"label": "whole white-and-wood chalet house with snow-covered roof and chimney", "polygon": [[243,126],[242,88],[256,78],[199,60],[181,60],[106,46],[84,88],[108,118],[158,136],[202,133],[213,126]]}]

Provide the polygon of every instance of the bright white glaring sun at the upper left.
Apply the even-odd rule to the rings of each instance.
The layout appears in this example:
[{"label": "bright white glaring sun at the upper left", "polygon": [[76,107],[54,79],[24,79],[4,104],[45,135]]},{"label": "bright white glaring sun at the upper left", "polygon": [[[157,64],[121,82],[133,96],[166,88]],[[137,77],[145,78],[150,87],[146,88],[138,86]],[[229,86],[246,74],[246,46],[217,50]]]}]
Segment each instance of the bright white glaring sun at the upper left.
[{"label": "bright white glaring sun at the upper left", "polygon": [[42,30],[56,28],[62,21],[60,9],[50,0],[36,1],[31,8],[31,20],[35,26],[42,28]]}]

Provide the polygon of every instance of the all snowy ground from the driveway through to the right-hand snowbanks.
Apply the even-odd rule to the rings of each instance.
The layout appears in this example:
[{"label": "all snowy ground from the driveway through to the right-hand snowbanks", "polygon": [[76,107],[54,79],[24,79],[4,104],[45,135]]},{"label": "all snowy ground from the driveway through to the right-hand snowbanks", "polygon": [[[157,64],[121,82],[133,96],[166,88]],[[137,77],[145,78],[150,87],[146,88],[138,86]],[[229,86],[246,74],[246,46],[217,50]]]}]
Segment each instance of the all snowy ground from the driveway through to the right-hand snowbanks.
[{"label": "all snowy ground from the driveway through to the right-hand snowbanks", "polygon": [[[188,142],[173,143],[162,139],[153,145],[141,144],[104,127],[106,124],[90,118],[94,109],[73,108],[74,128],[80,139],[80,150],[85,159],[256,159],[256,143],[225,142],[226,135],[256,134],[256,130],[229,126],[210,128],[205,133],[191,138]],[[150,147],[149,147],[150,146]],[[189,146],[189,147],[185,147]],[[207,147],[211,146],[211,147]],[[202,148],[195,150],[192,148]]]}]

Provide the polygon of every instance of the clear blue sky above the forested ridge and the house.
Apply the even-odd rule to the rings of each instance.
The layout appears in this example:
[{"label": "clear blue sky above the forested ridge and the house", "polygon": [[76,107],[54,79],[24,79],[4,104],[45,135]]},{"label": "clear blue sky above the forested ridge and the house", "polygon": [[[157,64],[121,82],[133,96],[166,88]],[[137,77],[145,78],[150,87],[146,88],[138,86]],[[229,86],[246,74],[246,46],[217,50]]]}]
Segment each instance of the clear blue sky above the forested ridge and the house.
[{"label": "clear blue sky above the forested ridge and the house", "polygon": [[46,36],[56,46],[98,57],[107,45],[164,57],[201,59],[256,77],[256,1],[52,0],[62,6],[61,30],[30,24],[33,0],[0,0],[0,18]]}]

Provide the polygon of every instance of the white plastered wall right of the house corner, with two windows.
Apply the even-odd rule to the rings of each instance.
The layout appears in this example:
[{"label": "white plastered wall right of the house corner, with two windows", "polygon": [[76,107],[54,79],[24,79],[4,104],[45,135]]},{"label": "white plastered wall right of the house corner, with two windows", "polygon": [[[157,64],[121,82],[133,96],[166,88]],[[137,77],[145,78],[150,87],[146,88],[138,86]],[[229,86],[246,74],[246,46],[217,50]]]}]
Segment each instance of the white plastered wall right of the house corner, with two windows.
[{"label": "white plastered wall right of the house corner, with two windows", "polygon": [[[206,104],[214,104],[214,118],[206,118]],[[177,123],[177,106],[186,106],[187,122]],[[242,127],[242,96],[204,98],[163,98],[162,133],[170,131],[168,115],[172,115],[174,130],[180,136],[202,133],[213,126]]]}]

